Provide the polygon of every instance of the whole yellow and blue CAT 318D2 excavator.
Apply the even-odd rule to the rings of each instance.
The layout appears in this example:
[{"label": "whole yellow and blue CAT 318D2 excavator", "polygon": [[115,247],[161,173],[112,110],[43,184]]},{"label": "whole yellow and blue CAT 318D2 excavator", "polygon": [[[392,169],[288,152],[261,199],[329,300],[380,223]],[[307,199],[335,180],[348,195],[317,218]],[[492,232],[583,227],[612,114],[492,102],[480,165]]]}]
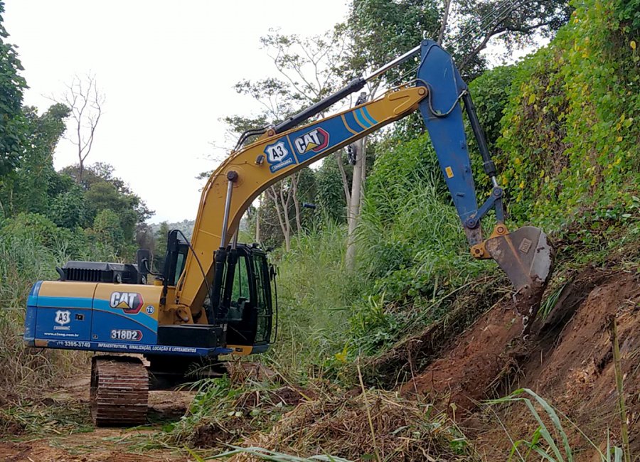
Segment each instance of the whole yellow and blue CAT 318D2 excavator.
[{"label": "whole yellow and blue CAT 318D2 excavator", "polygon": [[[336,102],[420,55],[415,79],[328,117]],[[492,190],[478,204],[463,108]],[[24,342],[33,348],[100,352],[92,357],[90,407],[96,426],[146,421],[149,389],[219,373],[223,355],[264,353],[277,329],[276,272],[257,244],[238,242],[240,219],[273,183],[420,111],[476,259],[494,259],[511,280],[525,329],[551,271],[553,250],[537,227],[509,232],[503,189],[467,85],[452,57],[425,40],[370,75],[270,127],[246,131],[203,188],[191,242],[169,232],[164,267],[71,261],[58,281],[38,281],[26,307]],[[483,238],[481,220],[496,225]],[[191,371],[191,372],[190,372]]]}]

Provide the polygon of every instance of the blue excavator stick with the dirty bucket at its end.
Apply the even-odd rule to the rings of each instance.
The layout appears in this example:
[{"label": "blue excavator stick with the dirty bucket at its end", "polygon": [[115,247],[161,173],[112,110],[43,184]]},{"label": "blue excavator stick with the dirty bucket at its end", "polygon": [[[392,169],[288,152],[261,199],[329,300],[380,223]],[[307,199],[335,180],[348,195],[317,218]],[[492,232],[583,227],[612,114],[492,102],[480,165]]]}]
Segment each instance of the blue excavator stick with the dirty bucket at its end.
[{"label": "blue excavator stick with the dirty bucket at its end", "polygon": [[[420,102],[420,114],[471,246],[471,254],[476,258],[496,260],[506,272],[516,289],[516,306],[525,316],[527,325],[528,318],[535,316],[542,289],[550,276],[553,249],[545,233],[537,227],[521,227],[508,232],[504,224],[504,193],[496,181],[496,166],[489,155],[469,88],[452,57],[437,43],[423,41],[420,55],[417,81],[428,90],[427,98]],[[466,143],[463,104],[483,158],[484,172],[493,186],[480,207]],[[495,212],[496,225],[485,241],[481,220],[490,210]]]}]

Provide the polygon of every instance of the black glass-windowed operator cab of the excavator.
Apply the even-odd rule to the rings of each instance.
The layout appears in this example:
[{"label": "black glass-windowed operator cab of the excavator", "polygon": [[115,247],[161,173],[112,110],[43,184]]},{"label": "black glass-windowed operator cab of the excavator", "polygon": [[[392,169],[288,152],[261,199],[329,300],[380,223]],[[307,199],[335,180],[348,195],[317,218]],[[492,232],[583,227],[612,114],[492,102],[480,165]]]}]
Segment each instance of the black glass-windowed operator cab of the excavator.
[{"label": "black glass-windowed operator cab of the excavator", "polygon": [[[162,269],[167,285],[178,283],[188,252],[188,243],[178,238],[178,231],[169,232]],[[218,325],[226,324],[225,344],[234,353],[266,351],[272,341],[277,293],[274,267],[267,261],[266,252],[257,244],[227,247],[225,262],[216,266],[216,272],[220,268],[220,274],[210,281],[210,294],[203,303],[208,318],[215,318]]]}]

